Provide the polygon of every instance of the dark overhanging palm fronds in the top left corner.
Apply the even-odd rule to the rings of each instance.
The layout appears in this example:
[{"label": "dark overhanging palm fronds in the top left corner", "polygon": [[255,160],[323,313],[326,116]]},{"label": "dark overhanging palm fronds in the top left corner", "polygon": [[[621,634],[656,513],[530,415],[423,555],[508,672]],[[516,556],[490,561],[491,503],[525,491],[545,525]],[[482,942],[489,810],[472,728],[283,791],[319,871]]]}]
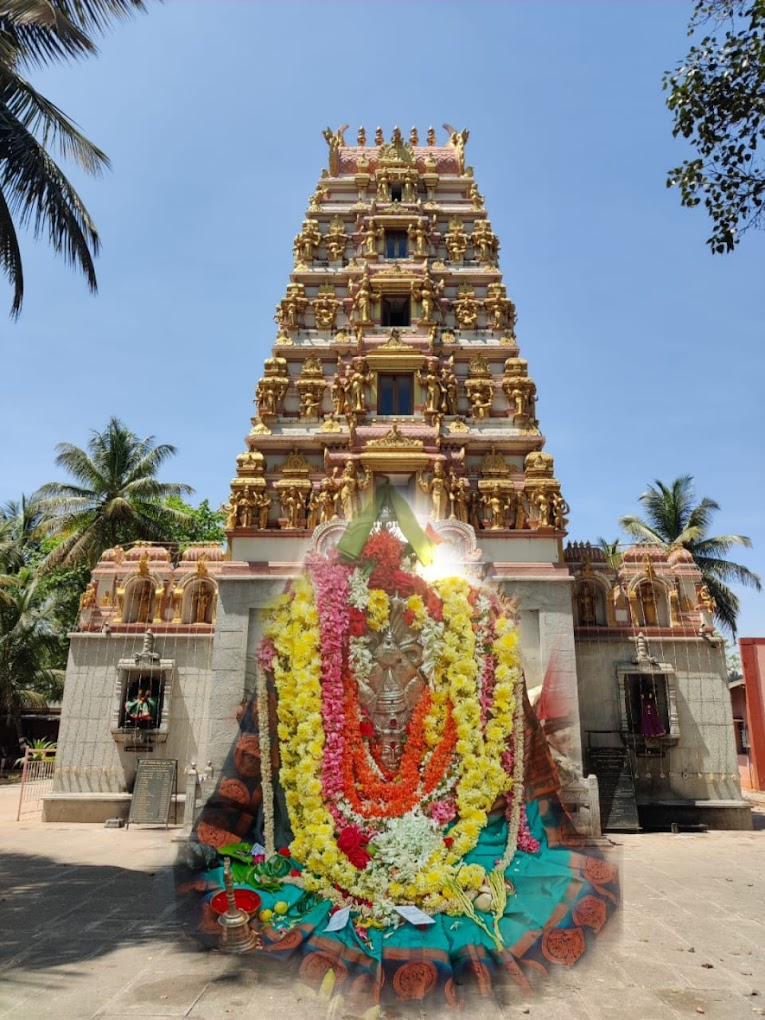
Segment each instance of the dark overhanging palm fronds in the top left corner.
[{"label": "dark overhanging palm fronds in the top left corner", "polygon": [[92,174],[109,164],[24,74],[95,53],[95,33],[143,8],[143,0],[4,0],[0,5],[0,270],[13,288],[13,316],[23,300],[17,225],[31,227],[36,238],[47,237],[96,290],[98,233],[51,150]]}]

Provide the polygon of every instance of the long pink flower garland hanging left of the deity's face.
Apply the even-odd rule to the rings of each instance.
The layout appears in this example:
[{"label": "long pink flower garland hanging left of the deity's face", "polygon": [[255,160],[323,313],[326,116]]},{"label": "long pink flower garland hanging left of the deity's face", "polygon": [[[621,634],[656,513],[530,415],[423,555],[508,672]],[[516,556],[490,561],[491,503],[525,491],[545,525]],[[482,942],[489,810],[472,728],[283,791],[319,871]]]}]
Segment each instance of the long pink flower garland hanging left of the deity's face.
[{"label": "long pink flower garland hanging left of the deity's face", "polygon": [[321,785],[324,803],[340,828],[345,820],[337,807],[343,790],[345,711],[343,663],[349,627],[349,569],[317,558],[310,564],[321,635],[321,718],[324,724],[324,758]]}]

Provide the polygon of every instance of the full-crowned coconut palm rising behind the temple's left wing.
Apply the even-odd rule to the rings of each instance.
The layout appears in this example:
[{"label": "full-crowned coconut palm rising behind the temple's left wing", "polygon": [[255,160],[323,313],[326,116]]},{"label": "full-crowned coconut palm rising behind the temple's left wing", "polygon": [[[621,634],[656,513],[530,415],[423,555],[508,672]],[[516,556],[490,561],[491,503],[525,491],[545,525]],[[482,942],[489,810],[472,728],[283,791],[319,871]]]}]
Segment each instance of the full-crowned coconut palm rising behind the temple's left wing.
[{"label": "full-crowned coconut palm rising behind the temple's left wing", "polygon": [[188,495],[191,487],[156,477],[174,447],[155,445],[153,436],[140,440],[111,418],[102,432],[91,434],[87,451],[71,443],[59,443],[56,450],[56,463],[73,482],[51,481],[37,493],[46,515],[43,528],[62,537],[43,561],[43,570],[78,563],[94,566],[101,553],[115,545],[172,542],[177,526],[189,523],[187,513],[162,501]]}]

